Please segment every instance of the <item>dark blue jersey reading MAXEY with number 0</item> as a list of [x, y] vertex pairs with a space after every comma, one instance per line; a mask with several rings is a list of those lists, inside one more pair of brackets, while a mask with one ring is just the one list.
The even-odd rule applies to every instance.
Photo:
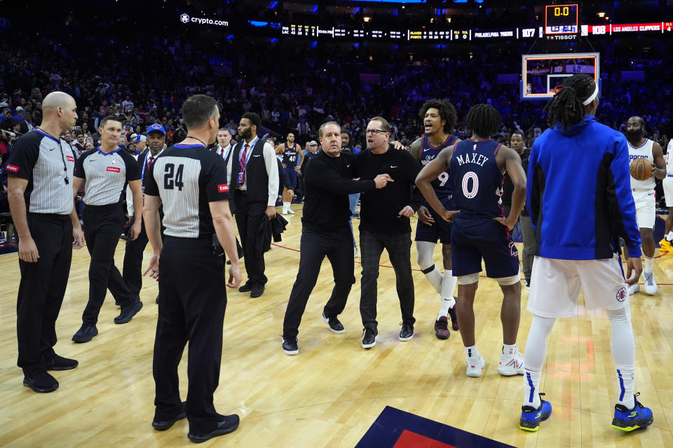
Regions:
[[462, 217], [503, 216], [503, 173], [496, 154], [502, 145], [492, 139], [463, 140], [451, 157], [454, 204]]

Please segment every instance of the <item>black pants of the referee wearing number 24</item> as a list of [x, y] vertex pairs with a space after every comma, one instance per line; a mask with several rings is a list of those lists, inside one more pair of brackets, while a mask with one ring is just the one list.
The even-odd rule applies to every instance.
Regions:
[[154, 341], [156, 420], [181, 411], [177, 366], [189, 342], [187, 405], [189, 432], [217, 428], [212, 394], [219, 382], [222, 321], [226, 309], [224, 257], [213, 253], [211, 236], [166, 236], [159, 258], [159, 295]]

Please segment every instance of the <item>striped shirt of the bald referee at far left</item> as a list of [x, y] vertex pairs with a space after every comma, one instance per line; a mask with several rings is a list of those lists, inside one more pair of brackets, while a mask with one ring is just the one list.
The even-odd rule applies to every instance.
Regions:
[[74, 204], [74, 167], [75, 155], [67, 141], [33, 130], [14, 144], [6, 171], [28, 181], [29, 213], [69, 215]]

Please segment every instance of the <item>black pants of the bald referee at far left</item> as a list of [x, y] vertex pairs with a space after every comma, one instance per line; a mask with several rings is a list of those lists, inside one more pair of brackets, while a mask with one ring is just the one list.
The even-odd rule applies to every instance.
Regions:
[[55, 323], [68, 284], [73, 238], [69, 215], [29, 213], [27, 221], [40, 258], [34, 263], [19, 260], [17, 365], [33, 377], [44, 372], [54, 356]]

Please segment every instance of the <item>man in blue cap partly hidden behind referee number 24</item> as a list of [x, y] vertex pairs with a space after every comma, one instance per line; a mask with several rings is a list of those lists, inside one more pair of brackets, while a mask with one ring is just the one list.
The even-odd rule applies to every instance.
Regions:
[[[158, 155], [163, 151], [163, 145], [165, 143], [166, 131], [163, 129], [162, 125], [157, 123], [147, 128], [148, 149], [140, 153], [140, 156], [138, 157], [140, 181], [143, 189], [145, 178], [146, 176], [149, 176], [149, 168], [154, 164], [154, 160], [156, 160]], [[132, 195], [129, 193], [128, 189], [126, 191], [126, 205], [128, 207], [128, 216], [130, 216], [128, 225], [132, 227], [135, 224], [136, 216], [142, 218], [142, 209], [137, 212], [135, 211], [135, 207], [133, 207], [132, 203]], [[138, 237], [136, 239], [126, 240], [122, 276], [126, 286], [128, 286], [128, 292], [134, 297], [140, 294], [140, 288], [142, 288], [142, 253], [144, 252], [148, 241], [144, 222], [141, 222], [140, 224], [140, 233], [138, 234]], [[158, 295], [156, 300], [158, 300]]]

